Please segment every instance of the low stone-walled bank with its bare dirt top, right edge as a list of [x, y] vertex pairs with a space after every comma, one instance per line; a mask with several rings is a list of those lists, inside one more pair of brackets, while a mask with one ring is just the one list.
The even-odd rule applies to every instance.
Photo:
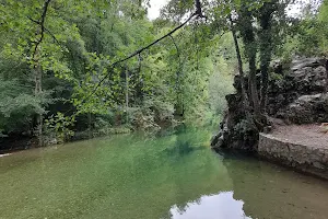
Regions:
[[278, 126], [260, 134], [258, 154], [304, 173], [328, 180], [328, 135], [319, 125]]

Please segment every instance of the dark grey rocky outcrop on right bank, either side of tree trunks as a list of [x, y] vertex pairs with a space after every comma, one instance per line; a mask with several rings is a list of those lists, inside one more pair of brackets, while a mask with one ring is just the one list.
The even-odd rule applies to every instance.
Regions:
[[[325, 59], [303, 58], [290, 65], [276, 61], [268, 89], [268, 116], [294, 124], [328, 122], [328, 95], [323, 94], [327, 73]], [[256, 151], [259, 132], [245, 119], [239, 76], [235, 77], [234, 88], [236, 93], [226, 96], [227, 112], [211, 145], [213, 148]], [[248, 88], [247, 78], [245, 88]]]

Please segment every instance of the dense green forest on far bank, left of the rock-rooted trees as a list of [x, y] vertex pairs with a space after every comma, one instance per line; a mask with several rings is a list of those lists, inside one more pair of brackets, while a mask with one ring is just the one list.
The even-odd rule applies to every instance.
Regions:
[[220, 113], [223, 103], [210, 105], [209, 97], [225, 93], [209, 80], [222, 73], [215, 83], [229, 84], [231, 78], [213, 64], [222, 62], [211, 49], [218, 39], [200, 23], [113, 66], [176, 26], [149, 21], [147, 3], [0, 1], [1, 135], [48, 136], [39, 142], [46, 143], [67, 140], [72, 130], [152, 130]]

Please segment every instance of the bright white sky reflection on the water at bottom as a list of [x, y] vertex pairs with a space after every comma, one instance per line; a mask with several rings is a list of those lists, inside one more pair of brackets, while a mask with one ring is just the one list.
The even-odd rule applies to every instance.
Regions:
[[172, 219], [251, 219], [243, 210], [244, 201], [233, 198], [233, 192], [203, 196], [187, 204], [184, 208], [176, 205], [169, 210]]

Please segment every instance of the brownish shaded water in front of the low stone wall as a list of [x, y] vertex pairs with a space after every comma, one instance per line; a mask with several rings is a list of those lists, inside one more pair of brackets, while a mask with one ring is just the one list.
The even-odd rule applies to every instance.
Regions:
[[304, 184], [306, 176], [245, 157], [236, 159], [225, 155], [223, 164], [233, 181], [234, 198], [245, 201], [244, 210], [247, 216], [286, 219], [325, 218], [323, 212], [315, 209], [325, 209], [327, 214], [324, 205], [327, 205], [328, 200], [325, 195], [321, 199], [314, 200], [319, 198], [318, 195], [314, 195], [314, 191], [320, 188], [313, 184]]

